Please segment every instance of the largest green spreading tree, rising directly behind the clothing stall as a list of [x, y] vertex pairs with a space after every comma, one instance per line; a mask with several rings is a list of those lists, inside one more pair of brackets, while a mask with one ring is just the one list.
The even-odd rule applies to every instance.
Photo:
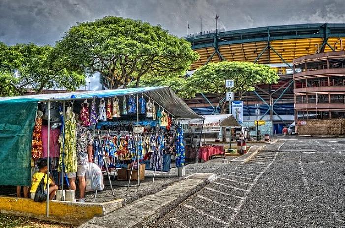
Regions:
[[184, 39], [172, 36], [160, 25], [104, 17], [73, 26], [57, 45], [66, 66], [109, 79], [110, 89], [124, 88], [142, 76], [183, 74], [198, 54]]

